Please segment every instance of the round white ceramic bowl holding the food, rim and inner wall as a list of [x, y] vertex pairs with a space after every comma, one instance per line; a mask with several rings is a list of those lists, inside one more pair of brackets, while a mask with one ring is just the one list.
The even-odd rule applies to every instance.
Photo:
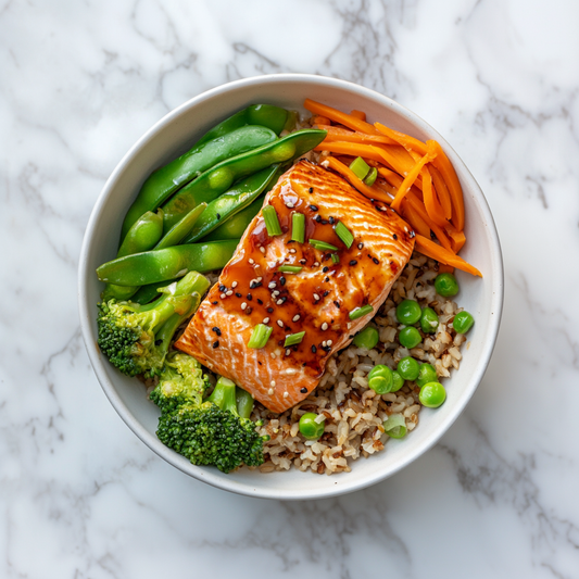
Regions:
[[[446, 402], [437, 410], [424, 408], [420, 424], [402, 440], [390, 440], [385, 451], [353, 463], [352, 471], [336, 476], [290, 470], [261, 474], [247, 468], [225, 475], [213, 467], [198, 467], [163, 445], [155, 436], [159, 411], [136, 378], [113, 368], [97, 348], [97, 307], [102, 291], [95, 269], [115, 255], [123, 217], [141, 184], [155, 167], [185, 152], [209, 128], [252, 103], [272, 103], [301, 110], [305, 98], [342, 111], [365, 111], [368, 121], [381, 123], [421, 140], [438, 140], [454, 164], [465, 197], [468, 241], [461, 255], [476, 265], [483, 278], [457, 273], [460, 305], [476, 319], [468, 335], [460, 370], [445, 380]], [[156, 454], [184, 473], [219, 489], [281, 500], [331, 496], [363, 489], [404, 468], [454, 423], [479, 385], [496, 340], [503, 302], [501, 248], [489, 206], [458, 155], [427, 123], [399, 103], [367, 88], [313, 75], [280, 74], [246, 78], [223, 85], [186, 102], [167, 114], [122, 159], [106, 181], [90, 216], [79, 264], [80, 326], [95, 373], [129, 428]]]

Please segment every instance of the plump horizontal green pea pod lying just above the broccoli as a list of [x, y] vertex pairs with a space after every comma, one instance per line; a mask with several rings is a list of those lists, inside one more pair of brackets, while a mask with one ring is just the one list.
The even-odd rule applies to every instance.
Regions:
[[97, 275], [101, 281], [118, 286], [156, 284], [187, 272], [219, 269], [231, 259], [236, 247], [236, 240], [226, 240], [144, 251], [105, 263], [97, 268]]

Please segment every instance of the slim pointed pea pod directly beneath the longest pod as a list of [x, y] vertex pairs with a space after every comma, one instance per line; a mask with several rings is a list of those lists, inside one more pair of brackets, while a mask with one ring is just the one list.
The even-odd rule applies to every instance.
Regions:
[[194, 224], [185, 243], [203, 239], [207, 234], [219, 227], [227, 219], [249, 206], [264, 191], [269, 190], [282, 173], [280, 165], [273, 165], [237, 182], [217, 199], [212, 201]]

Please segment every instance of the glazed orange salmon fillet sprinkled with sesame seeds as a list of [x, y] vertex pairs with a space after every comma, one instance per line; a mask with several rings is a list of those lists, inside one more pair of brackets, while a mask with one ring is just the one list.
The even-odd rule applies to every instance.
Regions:
[[[329, 356], [383, 303], [412, 255], [414, 231], [392, 210], [309, 161], [284, 174], [265, 204], [276, 210], [282, 235], [267, 234], [262, 212], [253, 218], [175, 347], [281, 413], [316, 388]], [[295, 212], [305, 215], [304, 243], [291, 240]], [[338, 222], [354, 236], [350, 248], [335, 231]], [[315, 249], [310, 239], [338, 250]], [[280, 273], [281, 265], [302, 269]], [[350, 319], [368, 304], [372, 313]], [[273, 328], [259, 350], [247, 345], [257, 324]], [[287, 336], [301, 331], [299, 344], [284, 347]]]

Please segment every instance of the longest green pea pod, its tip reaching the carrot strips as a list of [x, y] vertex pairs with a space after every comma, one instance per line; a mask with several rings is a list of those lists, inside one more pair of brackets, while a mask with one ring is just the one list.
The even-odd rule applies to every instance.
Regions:
[[325, 137], [325, 130], [298, 130], [253, 151], [222, 161], [186, 185], [163, 205], [164, 229], [168, 230], [181, 215], [199, 203], [209, 203], [219, 197], [237, 179], [257, 173], [274, 163], [297, 159], [319, 144]]

